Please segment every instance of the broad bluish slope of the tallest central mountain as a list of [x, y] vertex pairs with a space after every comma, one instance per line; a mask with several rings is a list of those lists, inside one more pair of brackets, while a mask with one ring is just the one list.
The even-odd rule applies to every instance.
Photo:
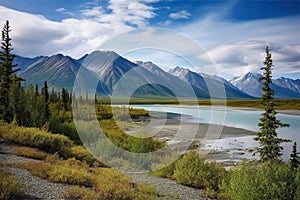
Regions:
[[[111, 51], [95, 51], [79, 59], [106, 84], [110, 94], [134, 97], [190, 97], [187, 85], [179, 85]], [[157, 66], [156, 66], [157, 67]], [[157, 67], [158, 70], [158, 67]], [[166, 74], [164, 74], [166, 76]], [[178, 79], [176, 79], [178, 80]], [[113, 93], [114, 92], [114, 93]], [[176, 93], [176, 94], [175, 94]]]

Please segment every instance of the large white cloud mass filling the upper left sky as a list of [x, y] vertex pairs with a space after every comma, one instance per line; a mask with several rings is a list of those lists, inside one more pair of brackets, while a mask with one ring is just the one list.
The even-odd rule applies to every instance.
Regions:
[[[104, 13], [100, 6], [94, 5], [85, 7], [81, 18], [71, 17], [60, 22], [0, 6], [0, 23], [10, 21], [16, 54], [32, 57], [60, 52], [80, 57], [97, 49], [108, 38], [146, 26], [155, 13], [154, 8], [143, 2], [111, 0], [108, 7], [111, 13]], [[68, 13], [65, 8], [56, 11]]]

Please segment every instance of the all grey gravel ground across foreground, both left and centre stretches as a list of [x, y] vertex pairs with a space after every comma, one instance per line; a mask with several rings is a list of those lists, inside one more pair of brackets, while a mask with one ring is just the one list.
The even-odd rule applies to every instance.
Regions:
[[[4, 142], [0, 139], [0, 163], [15, 163], [15, 162], [42, 162], [34, 159], [24, 158], [14, 155], [16, 145]], [[63, 199], [63, 192], [68, 188], [68, 185], [60, 183], [52, 183], [46, 179], [32, 175], [26, 169], [15, 167], [4, 167], [11, 175], [15, 176], [20, 183], [27, 185], [26, 197], [23, 199], [45, 199], [59, 200]], [[180, 185], [173, 180], [151, 176], [143, 173], [128, 173], [134, 182], [142, 182], [153, 185], [157, 188], [163, 197], [158, 197], [159, 200], [178, 199], [178, 200], [210, 200], [203, 190]]]

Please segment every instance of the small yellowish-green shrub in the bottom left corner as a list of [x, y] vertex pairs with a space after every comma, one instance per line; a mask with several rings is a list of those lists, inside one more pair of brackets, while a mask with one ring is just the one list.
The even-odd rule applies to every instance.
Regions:
[[0, 169], [0, 199], [18, 199], [25, 192], [25, 186], [17, 179], [10, 176], [6, 171]]

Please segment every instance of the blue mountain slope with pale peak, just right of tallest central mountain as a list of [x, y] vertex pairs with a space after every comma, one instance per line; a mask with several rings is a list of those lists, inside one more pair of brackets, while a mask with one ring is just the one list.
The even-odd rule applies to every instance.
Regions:
[[176, 67], [169, 71], [171, 74], [190, 83], [194, 87], [209, 91], [210, 98], [228, 98], [228, 99], [250, 99], [253, 98], [238, 88], [234, 87], [228, 81], [218, 76], [210, 76], [207, 74], [198, 74], [189, 69]]

